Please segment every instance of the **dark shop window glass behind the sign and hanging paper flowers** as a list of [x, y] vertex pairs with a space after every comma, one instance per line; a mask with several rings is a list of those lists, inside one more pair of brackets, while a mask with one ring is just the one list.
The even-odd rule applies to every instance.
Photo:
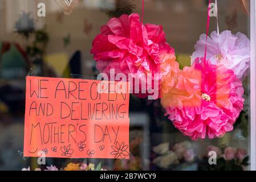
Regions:
[[[148, 100], [130, 94], [129, 160], [47, 158], [46, 164], [40, 166], [37, 158], [23, 158], [25, 77], [94, 79], [100, 69], [96, 68], [91, 53], [92, 42], [110, 16], [133, 12], [143, 15], [143, 24], [161, 25], [166, 43], [174, 48], [180, 69], [191, 66], [191, 56], [196, 51], [194, 46], [200, 35], [206, 33], [208, 1], [204, 0], [147, 0], [144, 9], [140, 0], [73, 0], [72, 6], [63, 1], [0, 0], [1, 170], [46, 169], [51, 165], [58, 169], [76, 169], [67, 166], [70, 163], [93, 163], [96, 167], [100, 162], [102, 168], [108, 170], [250, 170], [250, 72], [243, 75], [243, 69], [247, 69], [244, 64], [249, 65], [250, 58], [235, 67], [223, 57], [234, 56], [231, 59], [240, 61], [248, 59], [248, 53], [250, 56], [246, 46], [250, 45], [247, 40], [250, 39], [249, 1], [239, 0], [218, 1], [220, 34], [223, 39], [226, 36], [233, 39], [221, 47], [214, 47], [217, 33], [212, 34], [207, 52], [211, 56], [220, 52], [217, 55], [220, 60], [234, 68], [232, 74], [242, 80], [245, 101], [241, 113], [237, 111], [240, 114], [234, 119], [233, 130], [227, 129], [231, 131], [219, 138], [192, 140], [168, 119], [160, 99]], [[209, 35], [213, 31], [217, 31], [216, 16], [210, 18]], [[238, 37], [240, 40], [237, 41]], [[204, 52], [204, 46], [203, 42], [196, 47], [198, 54]], [[231, 46], [237, 46], [239, 51], [235, 52], [237, 50]], [[204, 100], [207, 99], [206, 94]], [[184, 117], [188, 116], [184, 113]], [[215, 132], [221, 133], [218, 129]], [[211, 165], [215, 161], [214, 154], [217, 154], [217, 164]]]

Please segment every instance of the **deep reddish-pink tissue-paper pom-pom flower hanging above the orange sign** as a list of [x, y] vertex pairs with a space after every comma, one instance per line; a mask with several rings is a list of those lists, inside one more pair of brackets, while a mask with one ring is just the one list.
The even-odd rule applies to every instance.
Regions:
[[[137, 78], [140, 81], [137, 85], [133, 81], [133, 93], [137, 86], [139, 93], [135, 93], [136, 96], [145, 98], [152, 95], [149, 89], [160, 90], [160, 65], [164, 61], [160, 55], [167, 53], [174, 56], [174, 49], [166, 43], [162, 26], [144, 25], [138, 14], [124, 14], [120, 18], [111, 18], [101, 27], [100, 34], [92, 42], [91, 53], [97, 61], [97, 69], [108, 77], [111, 69], [115, 69], [115, 75], [124, 73], [127, 78], [131, 73], [134, 80]], [[143, 77], [148, 73], [152, 74], [151, 79]], [[141, 84], [141, 81], [147, 84]], [[154, 81], [158, 88], [151, 86]]]

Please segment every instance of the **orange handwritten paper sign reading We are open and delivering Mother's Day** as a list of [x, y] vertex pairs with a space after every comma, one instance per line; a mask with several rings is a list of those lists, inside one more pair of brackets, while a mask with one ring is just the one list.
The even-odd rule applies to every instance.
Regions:
[[127, 82], [27, 77], [24, 156], [129, 158]]

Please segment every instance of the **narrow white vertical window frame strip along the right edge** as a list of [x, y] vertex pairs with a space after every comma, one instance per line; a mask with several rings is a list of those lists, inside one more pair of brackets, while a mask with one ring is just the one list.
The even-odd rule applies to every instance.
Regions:
[[251, 71], [250, 71], [250, 164], [251, 171], [256, 171], [256, 3], [250, 1], [250, 40], [251, 40]]

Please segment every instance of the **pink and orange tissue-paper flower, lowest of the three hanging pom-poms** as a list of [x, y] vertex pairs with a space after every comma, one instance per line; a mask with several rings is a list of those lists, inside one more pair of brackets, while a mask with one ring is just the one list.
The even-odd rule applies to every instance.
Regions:
[[180, 71], [161, 99], [173, 125], [193, 140], [223, 137], [243, 109], [242, 82], [234, 72], [203, 60]]

